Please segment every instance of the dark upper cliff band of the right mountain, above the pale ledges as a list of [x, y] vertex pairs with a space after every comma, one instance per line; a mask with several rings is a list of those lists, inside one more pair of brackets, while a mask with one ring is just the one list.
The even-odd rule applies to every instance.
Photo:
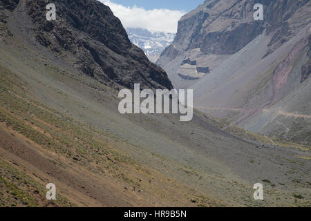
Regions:
[[[263, 30], [266, 35], [274, 32], [269, 46], [275, 49], [288, 40], [295, 28], [292, 25], [308, 24], [308, 19], [299, 23], [290, 20], [308, 2], [207, 0], [180, 19], [176, 39], [162, 57], [172, 60], [180, 52], [194, 48], [200, 48], [205, 55], [232, 55], [261, 35]], [[264, 6], [264, 21], [253, 19], [256, 3]]]

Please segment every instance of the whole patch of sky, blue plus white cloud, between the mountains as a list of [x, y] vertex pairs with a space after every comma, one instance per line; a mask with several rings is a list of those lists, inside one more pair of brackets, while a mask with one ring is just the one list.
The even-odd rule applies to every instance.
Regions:
[[111, 8], [125, 28], [176, 33], [178, 20], [204, 0], [99, 0]]

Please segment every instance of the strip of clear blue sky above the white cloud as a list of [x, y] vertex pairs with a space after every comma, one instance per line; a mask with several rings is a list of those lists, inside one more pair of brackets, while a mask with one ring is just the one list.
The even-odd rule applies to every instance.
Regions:
[[122, 6], [140, 6], [147, 10], [155, 8], [167, 8], [170, 10], [184, 10], [189, 12], [194, 10], [204, 0], [113, 0]]

